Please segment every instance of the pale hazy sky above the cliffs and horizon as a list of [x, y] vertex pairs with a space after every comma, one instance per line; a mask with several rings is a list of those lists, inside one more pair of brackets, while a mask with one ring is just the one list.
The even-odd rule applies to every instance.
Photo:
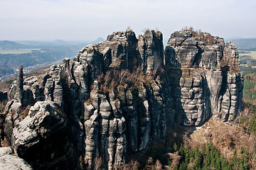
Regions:
[[0, 40], [95, 40], [128, 26], [256, 38], [255, 0], [0, 0]]

